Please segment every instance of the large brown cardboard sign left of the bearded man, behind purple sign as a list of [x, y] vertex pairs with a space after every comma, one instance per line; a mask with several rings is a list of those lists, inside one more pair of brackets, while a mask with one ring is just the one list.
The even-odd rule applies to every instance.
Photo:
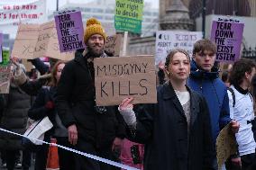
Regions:
[[60, 53], [55, 23], [46, 22], [41, 25], [21, 24], [14, 41], [12, 56], [26, 59], [48, 57], [70, 60], [74, 58], [74, 53]]

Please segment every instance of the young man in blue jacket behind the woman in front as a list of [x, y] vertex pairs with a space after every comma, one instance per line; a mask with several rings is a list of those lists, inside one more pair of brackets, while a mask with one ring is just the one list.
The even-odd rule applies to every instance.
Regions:
[[[216, 46], [210, 40], [198, 40], [193, 49], [191, 73], [187, 85], [206, 98], [210, 111], [214, 144], [222, 128], [230, 121], [233, 132], [237, 132], [239, 124], [232, 121], [229, 115], [227, 88], [218, 77], [215, 67]], [[215, 164], [216, 166], [216, 164]], [[217, 166], [215, 167], [217, 169]]]

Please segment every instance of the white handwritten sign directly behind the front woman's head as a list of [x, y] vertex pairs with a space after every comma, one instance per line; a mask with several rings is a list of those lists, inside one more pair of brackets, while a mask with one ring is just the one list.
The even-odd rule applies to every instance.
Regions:
[[201, 31], [157, 31], [155, 64], [165, 62], [165, 58], [172, 49], [186, 49], [190, 57], [195, 42], [201, 40]]

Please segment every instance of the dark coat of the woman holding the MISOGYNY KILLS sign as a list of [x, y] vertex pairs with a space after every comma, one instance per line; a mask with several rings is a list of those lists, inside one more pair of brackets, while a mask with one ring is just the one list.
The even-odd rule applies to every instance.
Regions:
[[144, 104], [137, 112], [135, 132], [129, 136], [145, 144], [144, 169], [211, 170], [213, 142], [205, 99], [191, 91], [190, 127], [169, 82], [158, 88], [158, 103]]

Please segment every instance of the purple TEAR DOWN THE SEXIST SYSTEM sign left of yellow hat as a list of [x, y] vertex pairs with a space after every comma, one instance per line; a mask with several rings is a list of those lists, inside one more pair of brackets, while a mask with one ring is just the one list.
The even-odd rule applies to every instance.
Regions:
[[54, 16], [60, 52], [84, 49], [84, 27], [81, 12], [62, 12]]

